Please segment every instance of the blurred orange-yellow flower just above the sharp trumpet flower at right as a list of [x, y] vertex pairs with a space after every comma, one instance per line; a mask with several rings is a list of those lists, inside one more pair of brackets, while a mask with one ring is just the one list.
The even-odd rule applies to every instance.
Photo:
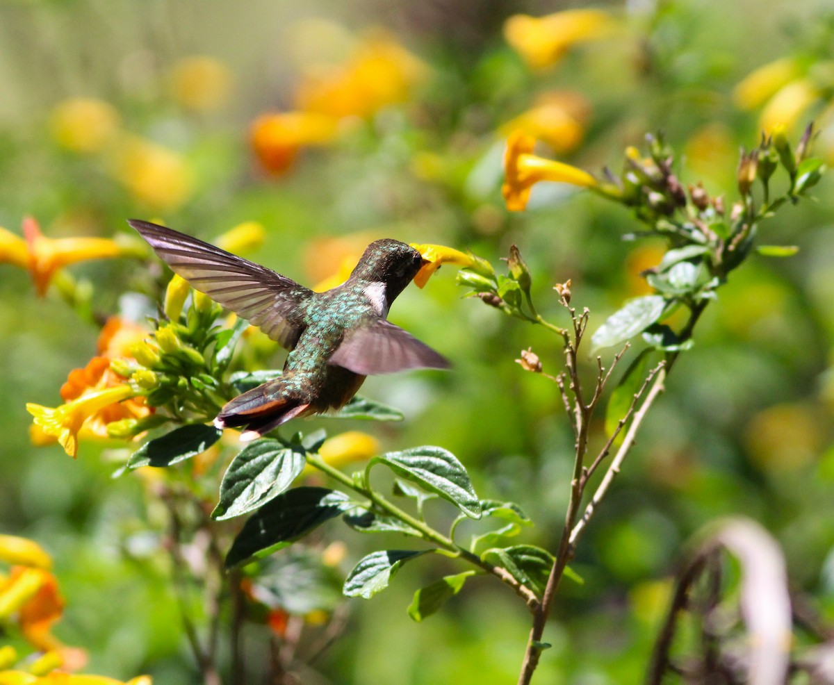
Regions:
[[557, 154], [570, 153], [585, 136], [590, 102], [578, 92], [549, 92], [526, 112], [500, 128], [503, 136], [524, 131], [543, 141]]

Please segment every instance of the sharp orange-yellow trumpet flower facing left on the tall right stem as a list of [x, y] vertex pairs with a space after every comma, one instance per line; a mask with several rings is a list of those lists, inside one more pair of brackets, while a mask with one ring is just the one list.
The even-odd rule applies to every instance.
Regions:
[[507, 209], [520, 212], [527, 207], [530, 188], [540, 181], [570, 183], [581, 188], [593, 188], [596, 179], [580, 168], [533, 154], [535, 138], [523, 131], [515, 131], [507, 138], [504, 156], [505, 180], [501, 186]]

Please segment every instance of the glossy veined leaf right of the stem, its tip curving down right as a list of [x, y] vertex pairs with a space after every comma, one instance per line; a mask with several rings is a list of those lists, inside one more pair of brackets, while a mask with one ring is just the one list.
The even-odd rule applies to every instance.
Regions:
[[384, 463], [394, 473], [447, 499], [470, 518], [480, 518], [480, 500], [472, 489], [469, 474], [455, 455], [443, 448], [425, 446], [374, 457], [370, 463]]

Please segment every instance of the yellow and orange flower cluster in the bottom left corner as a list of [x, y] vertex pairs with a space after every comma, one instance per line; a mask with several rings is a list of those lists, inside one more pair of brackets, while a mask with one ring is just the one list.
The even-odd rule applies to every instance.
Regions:
[[151, 685], [148, 676], [123, 682], [73, 673], [87, 662], [87, 653], [52, 634], [64, 607], [58, 578], [49, 572], [52, 557], [37, 542], [0, 535], [0, 562], [10, 566], [8, 572], [0, 570], [0, 632], [6, 635], [17, 627], [29, 645], [43, 652], [22, 659], [15, 647], [0, 647], [0, 685]]

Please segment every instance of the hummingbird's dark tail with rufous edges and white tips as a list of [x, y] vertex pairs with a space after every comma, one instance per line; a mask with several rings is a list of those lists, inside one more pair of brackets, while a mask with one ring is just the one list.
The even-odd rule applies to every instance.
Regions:
[[229, 400], [214, 419], [214, 425], [217, 428], [246, 428], [240, 439], [249, 441], [309, 411], [309, 402], [276, 393], [274, 383], [264, 383]]

